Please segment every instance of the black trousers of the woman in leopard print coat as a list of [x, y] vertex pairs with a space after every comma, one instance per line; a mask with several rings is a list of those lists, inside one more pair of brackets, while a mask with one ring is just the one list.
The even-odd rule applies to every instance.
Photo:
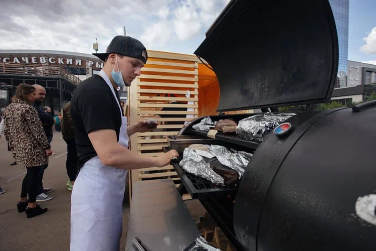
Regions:
[[29, 203], [37, 200], [37, 189], [39, 182], [39, 172], [41, 167], [27, 167], [28, 172], [22, 182], [21, 198], [25, 198], [29, 195]]

